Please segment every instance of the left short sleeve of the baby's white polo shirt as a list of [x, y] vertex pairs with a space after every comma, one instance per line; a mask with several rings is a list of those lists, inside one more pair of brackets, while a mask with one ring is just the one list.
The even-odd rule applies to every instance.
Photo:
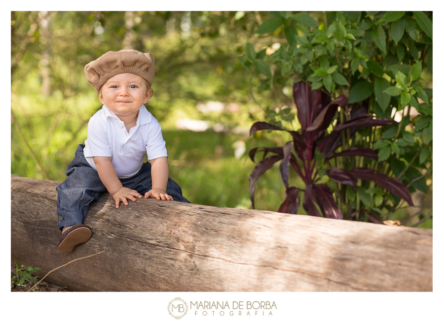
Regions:
[[108, 141], [106, 123], [94, 116], [91, 117], [88, 122], [84, 155], [85, 158], [111, 157], [111, 147]]

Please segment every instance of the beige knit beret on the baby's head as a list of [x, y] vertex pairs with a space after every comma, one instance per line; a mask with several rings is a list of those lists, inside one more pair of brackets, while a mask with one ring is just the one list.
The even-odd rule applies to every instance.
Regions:
[[154, 80], [154, 58], [151, 53], [136, 50], [109, 51], [95, 61], [85, 65], [88, 83], [97, 93], [108, 79], [120, 73], [133, 73], [148, 81]]

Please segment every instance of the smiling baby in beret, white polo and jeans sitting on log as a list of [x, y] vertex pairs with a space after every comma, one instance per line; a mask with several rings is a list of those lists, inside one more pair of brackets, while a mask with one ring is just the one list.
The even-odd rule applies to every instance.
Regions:
[[103, 107], [89, 120], [85, 145], [78, 146], [68, 178], [57, 186], [58, 249], [65, 253], [91, 237], [83, 220], [102, 193], [112, 195], [115, 208], [142, 197], [189, 202], [168, 176], [160, 124], [144, 106], [153, 93], [151, 53], [110, 51], [87, 64], [85, 74]]

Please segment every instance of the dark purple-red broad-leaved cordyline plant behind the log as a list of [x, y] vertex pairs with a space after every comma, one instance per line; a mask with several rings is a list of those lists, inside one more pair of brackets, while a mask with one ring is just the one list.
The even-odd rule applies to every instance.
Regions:
[[[301, 125], [300, 132], [286, 130], [265, 122], [253, 124], [250, 130], [250, 136], [259, 130], [285, 130], [293, 137], [293, 140], [287, 142], [284, 147], [256, 147], [250, 151], [250, 158], [253, 162], [256, 153], [264, 153], [262, 161], [258, 162], [250, 175], [250, 198], [253, 208], [255, 207], [254, 194], [259, 177], [276, 162], [282, 160], [279, 169], [286, 189], [286, 197], [278, 212], [296, 214], [299, 208], [301, 189], [289, 186], [288, 174], [291, 165], [305, 184], [305, 189], [302, 190], [305, 193], [302, 205], [307, 214], [342, 219], [342, 213], [334, 201], [329, 186], [317, 183], [320, 180], [319, 172], [324, 166], [320, 165], [319, 161], [325, 163], [338, 156], [362, 156], [377, 161], [378, 152], [364, 147], [352, 147], [333, 154], [341, 147], [341, 132], [347, 130], [350, 136], [353, 136], [361, 127], [386, 126], [396, 122], [390, 118], [375, 119], [368, 115], [367, 107], [357, 105], [351, 109], [348, 121], [340, 123], [338, 118], [332, 132], [326, 134], [327, 128], [338, 112], [338, 106], [345, 108], [348, 97], [340, 95], [331, 101], [328, 94], [320, 90], [311, 90], [311, 86], [302, 81], [293, 85], [293, 98], [297, 108], [297, 119]], [[293, 149], [296, 155], [293, 154]], [[268, 154], [272, 155], [267, 157]], [[378, 186], [406, 200], [410, 206], [413, 205], [410, 193], [401, 181], [373, 169], [355, 167], [345, 171], [338, 167], [332, 167], [325, 174], [332, 180], [349, 186], [356, 186], [356, 179], [373, 181]]]

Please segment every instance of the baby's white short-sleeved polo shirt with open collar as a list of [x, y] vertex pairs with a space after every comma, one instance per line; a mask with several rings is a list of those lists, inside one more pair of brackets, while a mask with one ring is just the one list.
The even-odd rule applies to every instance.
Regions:
[[83, 154], [96, 171], [93, 157], [111, 157], [119, 178], [135, 175], [145, 160], [145, 154], [148, 160], [168, 156], [160, 124], [144, 105], [139, 110], [136, 126], [129, 132], [120, 118], [103, 105], [89, 119]]

